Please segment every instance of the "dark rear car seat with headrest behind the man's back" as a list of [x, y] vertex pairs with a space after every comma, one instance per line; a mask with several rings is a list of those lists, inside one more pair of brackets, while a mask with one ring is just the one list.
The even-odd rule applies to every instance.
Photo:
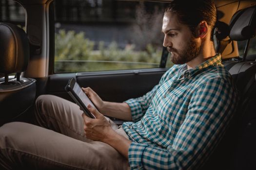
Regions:
[[241, 59], [223, 62], [236, 84], [240, 100], [229, 129], [202, 170], [256, 170], [256, 54], [247, 56], [256, 35], [256, 7], [236, 12], [230, 23], [230, 38], [247, 40]]

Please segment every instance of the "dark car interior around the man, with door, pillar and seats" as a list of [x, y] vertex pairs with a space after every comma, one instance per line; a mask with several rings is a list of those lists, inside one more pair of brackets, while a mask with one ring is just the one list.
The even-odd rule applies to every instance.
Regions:
[[[71, 78], [80, 86], [94, 89], [105, 101], [123, 102], [150, 91], [169, 69], [168, 51], [163, 47], [156, 68], [56, 72], [54, 0], [14, 1], [25, 10], [25, 31], [15, 23], [0, 20], [0, 126], [11, 121], [33, 123], [35, 100], [41, 94], [74, 102], [64, 89]], [[171, 0], [151, 1], [165, 4]], [[249, 51], [256, 47], [252, 43], [256, 35], [256, 1], [214, 1], [218, 11], [216, 52], [221, 53], [240, 98], [229, 129], [201, 169], [255, 170], [256, 51]], [[118, 124], [123, 122], [112, 119]]]

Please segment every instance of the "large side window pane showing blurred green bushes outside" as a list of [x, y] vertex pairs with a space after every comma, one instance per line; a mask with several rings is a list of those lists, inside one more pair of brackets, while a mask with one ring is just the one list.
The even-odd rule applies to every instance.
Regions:
[[55, 0], [55, 72], [158, 68], [165, 4]]

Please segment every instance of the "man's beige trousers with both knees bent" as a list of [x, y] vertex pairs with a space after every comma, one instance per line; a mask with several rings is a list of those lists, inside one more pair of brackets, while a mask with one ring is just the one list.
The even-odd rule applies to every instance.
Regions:
[[[75, 103], [42, 95], [35, 114], [39, 126], [11, 122], [0, 127], [0, 170], [129, 169], [128, 160], [110, 145], [84, 136], [82, 111]], [[108, 120], [117, 133], [128, 138]]]

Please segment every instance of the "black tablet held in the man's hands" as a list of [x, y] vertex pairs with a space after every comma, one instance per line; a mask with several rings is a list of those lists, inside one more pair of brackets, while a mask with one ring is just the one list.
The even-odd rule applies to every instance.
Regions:
[[92, 107], [97, 107], [91, 102], [91, 100], [86, 96], [84, 91], [81, 89], [80, 85], [76, 82], [74, 78], [68, 81], [68, 84], [65, 86], [65, 90], [68, 92], [70, 97], [79, 105], [82, 111], [89, 118], [96, 118], [88, 109], [88, 105], [91, 104]]

